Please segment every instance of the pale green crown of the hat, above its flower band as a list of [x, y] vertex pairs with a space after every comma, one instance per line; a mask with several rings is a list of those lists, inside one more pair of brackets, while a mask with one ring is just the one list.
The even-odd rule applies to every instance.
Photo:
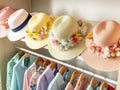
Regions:
[[53, 26], [52, 30], [57, 40], [68, 39], [70, 36], [78, 31], [78, 23], [73, 17], [63, 15], [58, 17]]

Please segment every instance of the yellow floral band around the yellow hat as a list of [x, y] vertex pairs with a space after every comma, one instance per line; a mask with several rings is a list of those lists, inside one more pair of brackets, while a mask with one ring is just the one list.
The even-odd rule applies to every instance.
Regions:
[[45, 26], [41, 27], [39, 32], [30, 32], [29, 29], [26, 30], [26, 33], [28, 37], [34, 39], [34, 40], [42, 40], [48, 37], [49, 31], [53, 25], [53, 22], [55, 21], [55, 16], [50, 16], [50, 21], [46, 23]]

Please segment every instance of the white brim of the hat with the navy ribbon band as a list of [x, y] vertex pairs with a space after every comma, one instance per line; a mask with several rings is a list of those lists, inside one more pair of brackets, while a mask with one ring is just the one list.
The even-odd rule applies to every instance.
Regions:
[[18, 32], [13, 32], [12, 30], [9, 31], [9, 34], [8, 34], [8, 39], [10, 41], [17, 41], [17, 40], [20, 40], [22, 39], [24, 36], [25, 36], [25, 33], [26, 33], [26, 28], [27, 28], [27, 25], [24, 26], [20, 31]]

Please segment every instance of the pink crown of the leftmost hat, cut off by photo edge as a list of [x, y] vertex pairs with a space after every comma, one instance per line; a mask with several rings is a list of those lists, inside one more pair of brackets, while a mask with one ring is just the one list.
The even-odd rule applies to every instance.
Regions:
[[0, 10], [0, 21], [7, 21], [9, 16], [14, 12], [10, 7], [5, 7]]

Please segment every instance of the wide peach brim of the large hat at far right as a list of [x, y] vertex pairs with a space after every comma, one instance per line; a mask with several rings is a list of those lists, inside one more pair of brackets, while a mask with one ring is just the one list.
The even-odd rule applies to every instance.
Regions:
[[99, 71], [117, 71], [120, 66], [120, 58], [104, 59], [103, 57], [92, 54], [88, 48], [83, 52], [81, 57], [89, 66]]

